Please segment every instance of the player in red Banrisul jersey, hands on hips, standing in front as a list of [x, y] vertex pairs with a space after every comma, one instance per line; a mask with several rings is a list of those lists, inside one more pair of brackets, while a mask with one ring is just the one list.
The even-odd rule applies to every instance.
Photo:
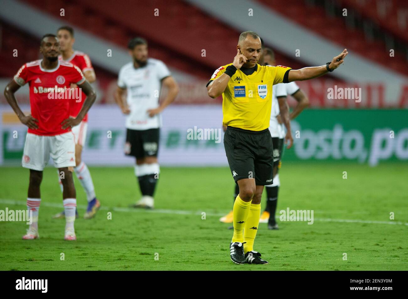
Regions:
[[[23, 236], [24, 240], [38, 238], [38, 210], [41, 196], [42, 171], [49, 158], [58, 168], [64, 192], [62, 193], [66, 215], [65, 240], [76, 240], [74, 221], [76, 192], [72, 171], [75, 166], [75, 141], [71, 128], [78, 125], [95, 102], [96, 94], [81, 70], [68, 62], [59, 61], [60, 43], [53, 34], [41, 39], [42, 60], [24, 64], [13, 80], [7, 84], [4, 96], [20, 121], [29, 127], [22, 158], [22, 166], [30, 169], [27, 209], [32, 211], [32, 223]], [[24, 115], [17, 104], [15, 92], [26, 83], [30, 87], [31, 114]], [[78, 116], [70, 118], [69, 100], [71, 84], [77, 84], [86, 100]], [[76, 100], [82, 94], [74, 93]]]

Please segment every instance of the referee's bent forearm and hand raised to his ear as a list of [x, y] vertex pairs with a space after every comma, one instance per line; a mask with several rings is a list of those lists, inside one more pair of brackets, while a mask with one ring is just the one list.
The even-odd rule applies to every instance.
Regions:
[[210, 96], [211, 98], [221, 96], [225, 91], [228, 85], [228, 81], [231, 79], [233, 74], [235, 74], [235, 72], [239, 70], [244, 63], [246, 63], [246, 57], [239, 52], [239, 49], [237, 49], [237, 55], [235, 55], [234, 57], [233, 64], [227, 66], [224, 74], [222, 74], [207, 86], [208, 96]]

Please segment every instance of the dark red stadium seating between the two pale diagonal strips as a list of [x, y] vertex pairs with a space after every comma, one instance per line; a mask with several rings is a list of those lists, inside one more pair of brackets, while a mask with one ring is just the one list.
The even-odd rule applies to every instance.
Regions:
[[[109, 0], [101, 0], [98, 5], [91, 0], [70, 4], [62, 0], [46, 0], [46, 4], [35, 0], [24, 2], [58, 18], [62, 18], [60, 9], [64, 8], [65, 20], [120, 46], [126, 47], [127, 41], [135, 35], [145, 37], [151, 57], [202, 79], [208, 79], [215, 68], [232, 61], [235, 55], [235, 51], [225, 49], [235, 48], [239, 32], [181, 0], [135, 0], [126, 2], [126, 6], [118, 4], [115, 10], [111, 9]], [[154, 15], [155, 8], [159, 9], [159, 16]], [[180, 44], [180, 40], [188, 40], [189, 46]], [[202, 57], [203, 49], [205, 57]], [[276, 59], [279, 64], [293, 68], [306, 66], [281, 53], [276, 53]]]

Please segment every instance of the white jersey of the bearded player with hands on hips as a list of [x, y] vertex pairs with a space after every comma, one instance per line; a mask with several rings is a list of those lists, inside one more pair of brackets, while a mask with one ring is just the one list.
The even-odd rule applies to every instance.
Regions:
[[118, 86], [127, 90], [130, 114], [126, 116], [126, 128], [133, 130], [156, 129], [162, 126], [162, 117], [149, 117], [147, 110], [159, 107], [162, 79], [170, 76], [166, 65], [157, 59], [147, 59], [146, 66], [134, 68], [133, 62], [119, 71]]

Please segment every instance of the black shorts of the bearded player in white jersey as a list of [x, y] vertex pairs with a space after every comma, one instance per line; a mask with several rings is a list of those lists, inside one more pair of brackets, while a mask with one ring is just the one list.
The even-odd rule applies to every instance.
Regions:
[[125, 154], [136, 158], [157, 157], [160, 129], [126, 129]]

